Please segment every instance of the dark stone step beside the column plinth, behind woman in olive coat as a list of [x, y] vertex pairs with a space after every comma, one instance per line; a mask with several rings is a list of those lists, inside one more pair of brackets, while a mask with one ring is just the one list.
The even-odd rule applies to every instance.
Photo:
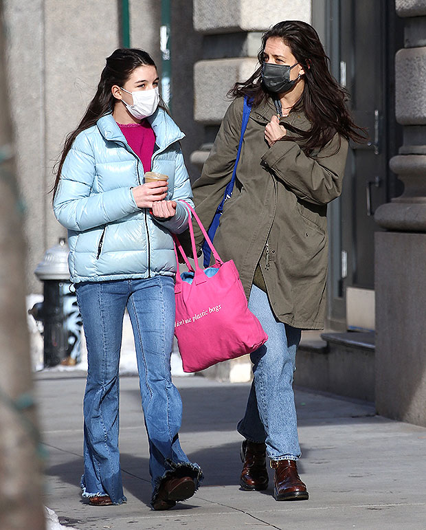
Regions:
[[302, 333], [296, 386], [374, 401], [374, 332]]

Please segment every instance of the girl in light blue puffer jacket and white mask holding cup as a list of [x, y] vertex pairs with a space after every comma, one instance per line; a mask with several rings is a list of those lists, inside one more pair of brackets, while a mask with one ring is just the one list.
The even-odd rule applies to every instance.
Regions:
[[[98, 90], [65, 141], [54, 212], [68, 229], [69, 270], [87, 341], [82, 496], [126, 501], [118, 450], [122, 322], [131, 318], [150, 448], [153, 509], [194, 494], [202, 473], [181, 449], [182, 404], [170, 376], [175, 323], [172, 233], [185, 230], [192, 191], [179, 140], [159, 104], [159, 78], [140, 49], [106, 58]], [[166, 175], [144, 183], [149, 170]], [[191, 202], [191, 201], [190, 201]]]

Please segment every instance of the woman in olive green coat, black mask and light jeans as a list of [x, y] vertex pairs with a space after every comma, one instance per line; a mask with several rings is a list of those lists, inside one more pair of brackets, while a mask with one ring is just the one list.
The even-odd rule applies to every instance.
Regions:
[[323, 326], [326, 204], [340, 195], [348, 140], [361, 135], [311, 25], [276, 24], [263, 36], [258, 59], [253, 76], [231, 91], [234, 101], [194, 184], [194, 202], [210, 225], [232, 176], [248, 98], [252, 108], [236, 185], [214, 239], [219, 254], [236, 263], [249, 309], [269, 336], [251, 354], [254, 381], [238, 423], [245, 438], [240, 485], [267, 488], [267, 455], [276, 500], [303, 500], [309, 494], [296, 464], [295, 353], [302, 329]]

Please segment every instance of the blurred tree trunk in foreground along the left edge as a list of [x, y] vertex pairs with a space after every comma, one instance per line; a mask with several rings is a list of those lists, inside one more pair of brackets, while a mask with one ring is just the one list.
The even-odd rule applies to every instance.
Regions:
[[0, 1], [0, 530], [42, 530], [41, 459], [25, 314], [23, 205], [14, 176], [5, 74]]

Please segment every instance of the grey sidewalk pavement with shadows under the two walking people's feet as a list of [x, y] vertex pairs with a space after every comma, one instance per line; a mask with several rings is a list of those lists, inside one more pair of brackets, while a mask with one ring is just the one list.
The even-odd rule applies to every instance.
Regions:
[[170, 511], [151, 511], [148, 443], [137, 377], [121, 378], [120, 506], [91, 507], [82, 472], [84, 373], [36, 373], [38, 414], [48, 451], [45, 505], [62, 525], [81, 530], [180, 529], [424, 530], [426, 428], [374, 415], [371, 404], [296, 390], [302, 480], [308, 501], [276, 502], [239, 489], [243, 414], [249, 384], [175, 377], [183, 399], [181, 444], [203, 467], [199, 491]]

